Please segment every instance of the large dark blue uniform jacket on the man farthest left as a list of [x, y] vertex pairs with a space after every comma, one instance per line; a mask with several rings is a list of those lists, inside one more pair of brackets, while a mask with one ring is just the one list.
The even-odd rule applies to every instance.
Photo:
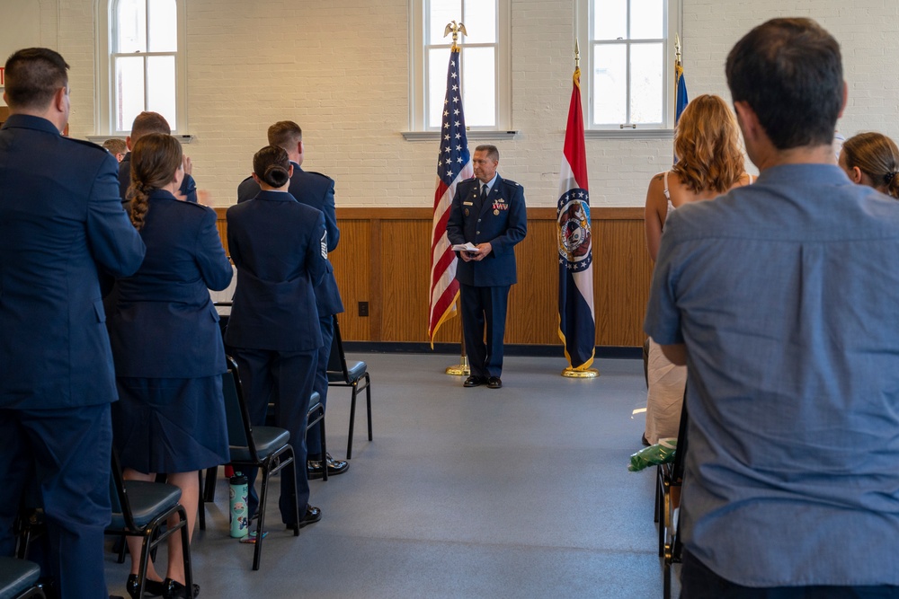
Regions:
[[0, 408], [117, 398], [98, 268], [130, 275], [144, 242], [99, 145], [12, 115], [0, 130]]

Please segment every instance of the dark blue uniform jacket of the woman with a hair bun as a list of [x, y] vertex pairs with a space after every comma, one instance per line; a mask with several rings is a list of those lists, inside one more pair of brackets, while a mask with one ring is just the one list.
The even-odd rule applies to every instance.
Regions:
[[327, 271], [325, 236], [325, 216], [284, 191], [260, 191], [227, 209], [228, 248], [237, 267], [229, 346], [321, 347], [314, 287]]

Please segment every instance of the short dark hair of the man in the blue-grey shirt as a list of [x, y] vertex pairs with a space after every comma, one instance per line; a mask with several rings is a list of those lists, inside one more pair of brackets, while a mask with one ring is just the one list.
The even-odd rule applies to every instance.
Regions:
[[727, 85], [779, 150], [829, 145], [840, 116], [840, 44], [811, 19], [772, 19], [727, 55]]

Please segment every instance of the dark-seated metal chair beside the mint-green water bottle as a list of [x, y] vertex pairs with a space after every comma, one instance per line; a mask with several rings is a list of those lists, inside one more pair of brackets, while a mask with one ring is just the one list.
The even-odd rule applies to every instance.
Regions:
[[[256, 521], [256, 542], [253, 553], [253, 569], [259, 569], [263, 554], [263, 527], [265, 524], [265, 503], [268, 495], [269, 477], [285, 467], [296, 471], [296, 458], [289, 444], [290, 433], [278, 427], [252, 427], [246, 409], [244, 395], [240, 387], [237, 363], [233, 357], [225, 357], [227, 373], [222, 374], [222, 391], [225, 394], [227, 414], [228, 445], [231, 449], [231, 463], [234, 466], [259, 468], [262, 472], [262, 488], [259, 493], [258, 519]], [[305, 468], [305, 464], [304, 468]], [[296, 479], [295, 479], [296, 480]], [[283, 479], [281, 484], [284, 484]], [[294, 496], [297, 491], [294, 489]], [[293, 535], [299, 535], [299, 508], [294, 515]]]

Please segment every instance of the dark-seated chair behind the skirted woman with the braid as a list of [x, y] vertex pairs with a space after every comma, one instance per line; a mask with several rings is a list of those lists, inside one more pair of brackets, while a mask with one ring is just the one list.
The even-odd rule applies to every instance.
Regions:
[[[121, 473], [119, 455], [112, 451], [112, 475], [110, 477], [110, 497], [112, 501], [112, 522], [106, 534], [123, 537], [141, 537], [140, 566], [138, 568], [138, 592], [144, 594], [147, 582], [147, 564], [150, 553], [171, 535], [181, 531], [184, 554], [185, 586], [193, 588], [191, 569], [191, 542], [187, 530], [187, 512], [179, 503], [181, 489], [165, 482], [146, 480], [125, 480]], [[167, 520], [178, 515], [174, 526]]]

